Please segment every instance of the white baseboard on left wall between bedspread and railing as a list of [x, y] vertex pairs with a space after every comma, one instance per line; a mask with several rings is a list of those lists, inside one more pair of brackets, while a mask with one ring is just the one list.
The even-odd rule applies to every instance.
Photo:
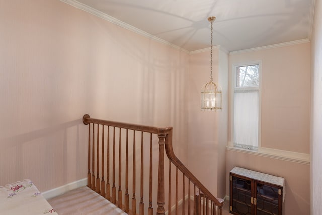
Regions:
[[87, 178], [83, 178], [78, 181], [71, 182], [69, 184], [63, 185], [61, 187], [54, 188], [52, 190], [47, 190], [42, 193], [42, 196], [48, 200], [50, 198], [62, 195], [70, 190], [77, 189], [87, 185]]

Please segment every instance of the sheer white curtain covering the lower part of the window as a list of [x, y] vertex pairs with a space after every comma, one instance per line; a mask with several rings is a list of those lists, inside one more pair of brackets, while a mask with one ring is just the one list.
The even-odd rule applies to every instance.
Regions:
[[258, 150], [259, 90], [234, 91], [234, 147]]

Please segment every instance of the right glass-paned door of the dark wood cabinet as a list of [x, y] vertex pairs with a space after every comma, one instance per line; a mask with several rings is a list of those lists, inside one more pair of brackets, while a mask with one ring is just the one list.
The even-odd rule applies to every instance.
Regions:
[[278, 214], [278, 188], [261, 184], [256, 184], [257, 215]]

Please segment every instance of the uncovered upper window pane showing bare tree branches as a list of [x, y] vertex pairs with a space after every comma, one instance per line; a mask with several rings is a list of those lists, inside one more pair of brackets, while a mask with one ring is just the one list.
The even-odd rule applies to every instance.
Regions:
[[248, 65], [237, 67], [237, 87], [258, 87], [259, 65]]

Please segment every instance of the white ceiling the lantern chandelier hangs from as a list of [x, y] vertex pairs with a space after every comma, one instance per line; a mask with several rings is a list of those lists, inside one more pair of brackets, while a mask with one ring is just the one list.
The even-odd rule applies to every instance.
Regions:
[[210, 47], [209, 16], [216, 16], [213, 45], [229, 52], [310, 39], [314, 9], [314, 0], [78, 2], [187, 51]]

